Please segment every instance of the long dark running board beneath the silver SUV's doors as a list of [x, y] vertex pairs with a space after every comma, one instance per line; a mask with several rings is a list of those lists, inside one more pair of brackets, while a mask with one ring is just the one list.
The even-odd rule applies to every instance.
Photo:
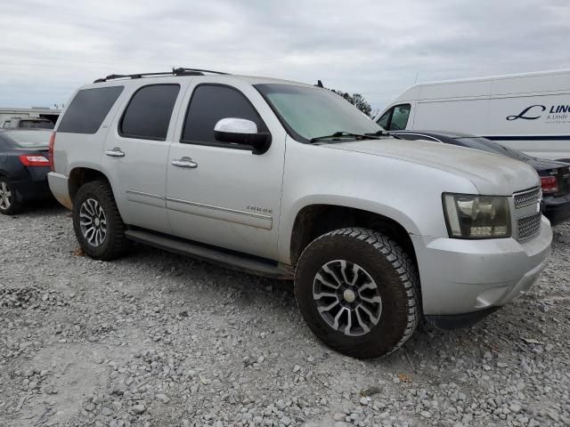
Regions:
[[221, 249], [201, 246], [190, 241], [181, 241], [175, 238], [168, 238], [144, 230], [126, 230], [126, 238], [140, 242], [149, 246], [158, 247], [175, 254], [183, 254], [204, 260], [215, 262], [232, 270], [240, 270], [253, 273], [265, 278], [292, 279], [293, 270], [289, 266], [280, 263], [264, 262], [253, 259], [247, 255], [227, 253]]

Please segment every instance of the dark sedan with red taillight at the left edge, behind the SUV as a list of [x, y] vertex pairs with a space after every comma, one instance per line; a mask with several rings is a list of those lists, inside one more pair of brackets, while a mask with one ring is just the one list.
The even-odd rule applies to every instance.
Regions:
[[50, 131], [0, 129], [0, 214], [20, 212], [27, 202], [50, 198]]

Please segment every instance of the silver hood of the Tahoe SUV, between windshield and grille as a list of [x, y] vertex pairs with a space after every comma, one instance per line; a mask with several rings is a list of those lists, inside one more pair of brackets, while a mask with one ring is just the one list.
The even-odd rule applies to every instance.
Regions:
[[506, 156], [448, 144], [386, 138], [330, 143], [322, 147], [396, 158], [441, 169], [467, 178], [480, 194], [489, 196], [510, 196], [540, 185], [538, 175], [530, 165]]

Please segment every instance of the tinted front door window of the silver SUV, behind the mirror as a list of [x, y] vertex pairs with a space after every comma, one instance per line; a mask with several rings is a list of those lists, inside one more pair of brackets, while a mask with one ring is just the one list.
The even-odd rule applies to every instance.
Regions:
[[216, 123], [229, 117], [246, 118], [257, 125], [257, 132], [268, 132], [251, 102], [237, 89], [223, 85], [197, 86], [186, 112], [181, 142], [232, 146], [214, 137]]

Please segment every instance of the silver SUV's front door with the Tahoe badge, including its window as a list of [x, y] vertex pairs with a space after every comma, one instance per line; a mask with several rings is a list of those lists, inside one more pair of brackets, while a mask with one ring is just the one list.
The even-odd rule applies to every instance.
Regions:
[[[208, 77], [208, 83], [195, 80], [168, 156], [172, 230], [179, 237], [276, 259], [285, 131], [251, 85], [238, 79], [222, 85], [216, 77]], [[216, 141], [214, 126], [228, 117], [251, 120], [258, 131], [271, 133], [271, 147], [255, 155], [250, 147]]]

